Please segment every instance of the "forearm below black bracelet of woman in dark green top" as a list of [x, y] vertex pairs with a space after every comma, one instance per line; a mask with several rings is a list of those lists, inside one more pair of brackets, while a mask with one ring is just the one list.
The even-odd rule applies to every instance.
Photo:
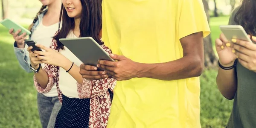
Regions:
[[237, 79], [235, 69], [223, 70], [219, 68], [216, 78], [218, 89], [227, 99], [233, 99], [237, 90]]

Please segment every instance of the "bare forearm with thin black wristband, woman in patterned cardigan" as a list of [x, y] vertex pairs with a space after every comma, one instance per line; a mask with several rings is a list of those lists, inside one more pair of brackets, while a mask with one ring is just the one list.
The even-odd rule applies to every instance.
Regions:
[[[70, 60], [66, 61], [67, 63], [65, 63], [63, 66], [61, 66], [64, 70], [69, 70], [70, 67], [72, 66], [72, 62]], [[68, 73], [74, 78], [76, 79], [76, 81], [79, 84], [83, 84], [83, 78], [81, 76], [81, 74], [79, 73], [80, 71], [80, 67], [78, 67], [76, 64], [73, 64], [72, 68], [68, 71]]]

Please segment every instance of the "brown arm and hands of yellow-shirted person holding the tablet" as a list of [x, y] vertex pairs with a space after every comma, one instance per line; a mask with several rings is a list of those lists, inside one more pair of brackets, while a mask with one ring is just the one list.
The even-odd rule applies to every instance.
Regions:
[[96, 68], [92, 66], [81, 65], [80, 73], [85, 79], [112, 77], [119, 81], [135, 77], [177, 80], [200, 76], [204, 68], [203, 33], [197, 32], [183, 37], [180, 39], [180, 43], [183, 47], [183, 58], [175, 61], [159, 64], [142, 64], [134, 62], [123, 55], [111, 54], [111, 58], [117, 61], [100, 60], [97, 65], [98, 68], [104, 69], [104, 72], [96, 71]]

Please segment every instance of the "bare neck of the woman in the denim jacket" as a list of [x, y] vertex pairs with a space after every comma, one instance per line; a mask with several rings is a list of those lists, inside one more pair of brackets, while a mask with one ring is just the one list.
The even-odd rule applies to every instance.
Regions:
[[48, 15], [60, 14], [61, 13], [61, 0], [55, 0], [51, 4], [47, 5], [47, 7], [48, 7], [48, 11], [47, 11]]

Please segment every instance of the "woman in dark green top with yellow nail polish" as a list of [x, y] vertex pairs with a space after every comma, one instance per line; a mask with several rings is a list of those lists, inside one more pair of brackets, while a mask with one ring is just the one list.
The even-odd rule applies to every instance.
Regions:
[[[244, 27], [256, 42], [256, 1], [242, 0], [233, 10], [230, 25]], [[232, 39], [221, 34], [215, 41], [219, 56], [217, 85], [227, 99], [234, 99], [227, 128], [255, 128], [256, 126], [256, 44]]]

